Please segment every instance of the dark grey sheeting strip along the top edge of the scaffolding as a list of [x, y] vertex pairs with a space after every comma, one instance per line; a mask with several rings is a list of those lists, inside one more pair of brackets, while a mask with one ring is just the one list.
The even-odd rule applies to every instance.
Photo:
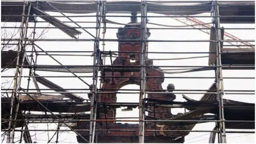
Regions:
[[[92, 13], [96, 12], [97, 4], [91, 1], [49, 1], [54, 7], [63, 13]], [[34, 2], [33, 4], [36, 4]], [[39, 2], [40, 9], [45, 12], [56, 12], [53, 7], [47, 5], [45, 2]], [[108, 12], [140, 12], [141, 2], [136, 1], [110, 1], [107, 2], [106, 10]], [[165, 15], [196, 15], [201, 13], [210, 13], [212, 3], [209, 1], [202, 1], [197, 4], [163, 4], [163, 3], [147, 3], [147, 11], [157, 14]], [[5, 15], [21, 15], [23, 10], [23, 2], [1, 2], [2, 14]], [[20, 6], [12, 6], [20, 5]], [[33, 6], [33, 5], [32, 5]], [[236, 2], [236, 3], [221, 3], [220, 15], [254, 15], [254, 1], [252, 2]], [[33, 14], [33, 12], [32, 12]], [[30, 20], [33, 20], [30, 18]], [[19, 17], [6, 18], [2, 17], [2, 21], [21, 21]], [[237, 17], [237, 18], [220, 18], [222, 23], [254, 23], [254, 18]]]

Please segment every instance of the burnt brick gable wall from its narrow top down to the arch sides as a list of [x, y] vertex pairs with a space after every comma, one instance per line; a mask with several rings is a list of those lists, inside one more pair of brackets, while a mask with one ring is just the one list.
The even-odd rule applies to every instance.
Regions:
[[[130, 26], [125, 26], [130, 27]], [[133, 26], [134, 27], [134, 26]], [[149, 31], [147, 32], [147, 36], [149, 36]], [[117, 33], [118, 39], [140, 39], [140, 30], [139, 29], [118, 29]], [[120, 66], [139, 66], [140, 65], [140, 53], [129, 53], [132, 52], [140, 52], [141, 44], [140, 42], [118, 42], [118, 51], [123, 53], [118, 53], [118, 58], [116, 58], [113, 62], [114, 65]], [[121, 57], [121, 58], [120, 58]], [[130, 58], [135, 58], [135, 62], [131, 62]], [[149, 64], [149, 63], [148, 63]], [[153, 63], [151, 62], [151, 65]], [[146, 69], [147, 76], [149, 77], [161, 77], [164, 76], [163, 73], [147, 68]], [[112, 76], [112, 72], [105, 72], [105, 76]], [[140, 73], [139, 72], [115, 72], [114, 76], [134, 76], [136, 78], [103, 78], [103, 85], [101, 89], [120, 89], [121, 87], [129, 84], [137, 84], [140, 85]], [[146, 81], [146, 89], [150, 90], [163, 90], [162, 83], [164, 82], [163, 78], [147, 78]], [[115, 92], [109, 90], [109, 92]], [[167, 100], [167, 95], [165, 94], [148, 94], [148, 98], [159, 99], [159, 100]], [[108, 93], [101, 94], [100, 102], [116, 102], [116, 94]], [[127, 101], [129, 102], [129, 101]], [[150, 107], [151, 110], [153, 108]], [[166, 108], [156, 108], [156, 117], [165, 118], [166, 117]], [[109, 111], [107, 114], [109, 117], [115, 117], [115, 110]], [[154, 114], [149, 113], [149, 116], [154, 116]], [[103, 118], [103, 117], [102, 117]]]

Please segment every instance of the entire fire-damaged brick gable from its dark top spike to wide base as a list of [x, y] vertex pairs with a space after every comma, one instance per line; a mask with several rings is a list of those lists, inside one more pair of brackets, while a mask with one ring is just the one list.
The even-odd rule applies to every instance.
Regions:
[[[137, 27], [137, 28], [134, 28]], [[132, 22], [127, 24], [125, 28], [119, 28], [117, 33], [118, 39], [138, 39], [140, 40], [140, 24], [134, 20], [132, 17]], [[146, 31], [146, 37], [150, 36], [149, 30]], [[97, 101], [105, 103], [115, 103], [117, 101], [116, 90], [121, 89], [125, 85], [137, 84], [140, 85], [140, 68], [132, 68], [129, 66], [140, 66], [140, 49], [141, 43], [138, 42], [118, 42], [118, 57], [113, 61], [113, 65], [119, 65], [121, 67], [110, 67], [101, 69], [101, 76], [105, 76], [101, 79], [102, 87], [106, 92], [101, 93], [101, 97], [97, 95]], [[146, 49], [148, 49], [148, 44], [146, 44]], [[129, 51], [129, 52], [128, 52]], [[147, 57], [147, 55], [146, 55]], [[153, 66], [153, 60], [146, 59], [147, 66]], [[122, 67], [125, 66], [125, 67]], [[111, 69], [111, 70], [109, 70]], [[111, 78], [111, 76], [117, 76]], [[119, 76], [119, 77], [118, 77]], [[120, 77], [125, 76], [125, 77]], [[160, 68], [146, 68], [147, 77], [160, 77], [160, 78], [146, 78], [146, 88], [150, 90], [163, 90], [162, 83], [164, 82], [164, 74]], [[171, 91], [171, 90], [170, 90]], [[151, 94], [148, 93], [147, 98], [163, 100], [163, 101], [173, 101], [174, 95], [158, 93]], [[148, 102], [150, 103], [150, 102]], [[151, 102], [152, 103], [152, 102]], [[154, 103], [154, 102], [153, 102]], [[137, 107], [137, 106], [136, 106]], [[99, 117], [97, 119], [106, 119], [106, 117], [116, 117], [117, 107], [99, 107], [97, 112]], [[156, 119], [166, 119], [172, 117], [171, 109], [164, 107], [146, 107], [149, 117], [154, 117]], [[113, 119], [113, 118], [111, 118]], [[77, 123], [76, 129], [89, 129], [90, 122], [79, 122]], [[98, 132], [97, 130], [101, 130]], [[153, 131], [157, 130], [156, 131]], [[156, 125], [154, 122], [145, 123], [145, 133], [144, 140], [146, 143], [157, 142], [157, 143], [172, 143], [172, 142], [184, 142], [184, 137], [188, 133], [184, 132], [163, 132], [161, 130], [186, 130], [186, 126], [166, 126], [166, 125]], [[97, 134], [98, 132], [98, 134]], [[89, 139], [89, 131], [79, 132], [84, 138]], [[95, 133], [97, 136], [98, 143], [138, 143], [139, 137], [139, 124], [122, 124], [116, 123], [115, 121], [110, 122], [99, 122], [97, 123]], [[174, 141], [174, 139], [179, 138], [179, 141]], [[78, 142], [84, 142], [81, 138], [77, 137]], [[96, 141], [95, 141], [96, 142]]]

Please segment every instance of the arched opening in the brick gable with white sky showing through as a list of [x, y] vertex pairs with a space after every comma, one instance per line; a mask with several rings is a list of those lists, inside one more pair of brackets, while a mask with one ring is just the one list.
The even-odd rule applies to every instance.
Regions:
[[[131, 89], [134, 91], [127, 91], [125, 89]], [[139, 92], [140, 89], [139, 85], [136, 84], [129, 84], [121, 87], [118, 92]], [[135, 91], [137, 90], [137, 91]], [[117, 93], [116, 94], [116, 102], [130, 102], [130, 103], [139, 103], [139, 94], [136, 93]], [[116, 109], [116, 119], [117, 120], [139, 120], [139, 108], [129, 108], [129, 107], [121, 107]], [[124, 117], [133, 117], [133, 118], [124, 118]], [[134, 118], [136, 117], [136, 118]], [[139, 122], [117, 122], [117, 123], [129, 123], [135, 124]]]

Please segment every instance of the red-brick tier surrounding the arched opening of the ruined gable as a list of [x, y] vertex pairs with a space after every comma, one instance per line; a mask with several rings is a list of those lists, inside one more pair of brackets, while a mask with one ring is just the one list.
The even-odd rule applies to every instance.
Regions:
[[[164, 76], [163, 73], [161, 73], [158, 70], [154, 69], [146, 69], [147, 76], [149, 77], [158, 77], [158, 76]], [[106, 76], [112, 76], [111, 72], [106, 72]], [[116, 102], [117, 97], [116, 93], [119, 89], [121, 89], [125, 85], [129, 84], [137, 84], [140, 85], [140, 78], [139, 72], [124, 72], [124, 76], [137, 76], [137, 78], [114, 78], [114, 81], [112, 78], [108, 80], [107, 82], [103, 83], [101, 89], [105, 89], [105, 91], [108, 91], [110, 93], [103, 93], [101, 94], [101, 102]], [[120, 73], [115, 72], [114, 76], [120, 76]], [[163, 78], [148, 78], [146, 81], [146, 89], [149, 90], [163, 90], [162, 83], [164, 82]], [[112, 90], [107, 90], [112, 89]], [[156, 91], [160, 92], [160, 91]], [[168, 96], [167, 94], [158, 93], [158, 94], [147, 94], [147, 98], [151, 99], [158, 99], [158, 100], [167, 100]], [[154, 110], [153, 107], [149, 107], [149, 110]], [[158, 118], [166, 118], [167, 114], [167, 108], [156, 108], [156, 117]], [[107, 117], [115, 117], [116, 116], [116, 109], [113, 109], [108, 112]], [[148, 113], [148, 116], [154, 116], [154, 113]], [[103, 117], [102, 117], [103, 118]]]

